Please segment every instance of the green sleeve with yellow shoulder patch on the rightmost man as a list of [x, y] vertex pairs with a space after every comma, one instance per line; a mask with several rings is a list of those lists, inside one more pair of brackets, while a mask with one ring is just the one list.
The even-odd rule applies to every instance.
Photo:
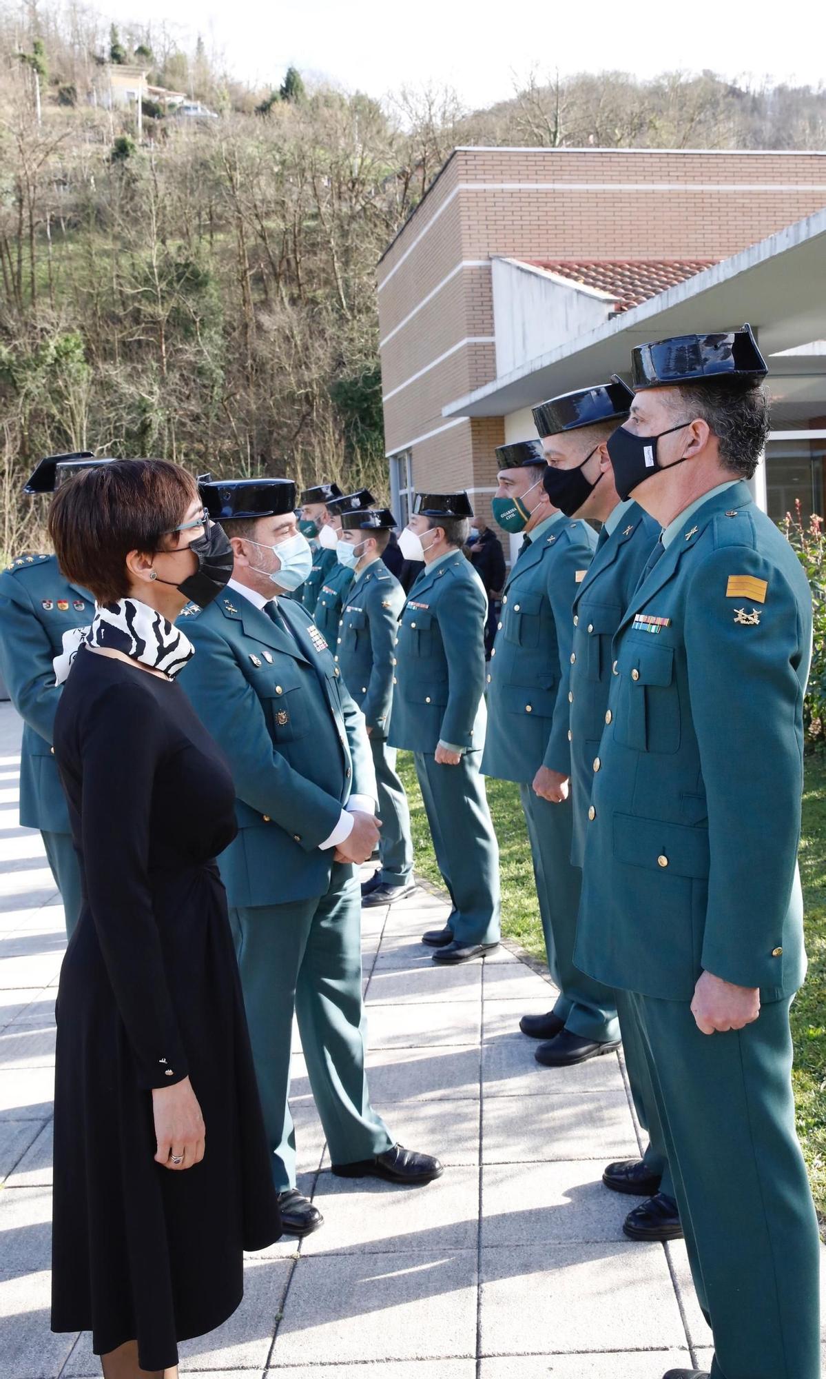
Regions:
[[[727, 597], [731, 575], [754, 581], [752, 597]], [[793, 590], [757, 552], [728, 546], [699, 565], [686, 655], [709, 816], [702, 965], [738, 986], [781, 985], [775, 950], [800, 841], [804, 641]]]

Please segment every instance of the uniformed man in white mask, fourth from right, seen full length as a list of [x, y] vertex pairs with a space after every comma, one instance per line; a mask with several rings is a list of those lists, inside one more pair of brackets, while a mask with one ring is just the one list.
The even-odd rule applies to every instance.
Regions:
[[461, 552], [472, 516], [465, 492], [417, 494], [399, 536], [424, 570], [399, 623], [390, 743], [413, 753], [453, 905], [446, 927], [423, 938], [434, 963], [467, 963], [500, 940], [498, 845], [479, 775], [487, 596]]

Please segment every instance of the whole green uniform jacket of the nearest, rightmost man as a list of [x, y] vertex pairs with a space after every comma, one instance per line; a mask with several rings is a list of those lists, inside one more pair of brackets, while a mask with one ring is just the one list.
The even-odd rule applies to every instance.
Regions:
[[[658, 629], [658, 630], [651, 630]], [[702, 969], [803, 980], [797, 877], [807, 578], [745, 483], [694, 512], [614, 640], [574, 961], [688, 1001]]]

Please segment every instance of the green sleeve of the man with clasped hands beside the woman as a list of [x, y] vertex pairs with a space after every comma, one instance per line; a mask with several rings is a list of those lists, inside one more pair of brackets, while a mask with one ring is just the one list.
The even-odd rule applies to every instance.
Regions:
[[304, 852], [314, 852], [341, 818], [341, 803], [293, 771], [275, 750], [262, 702], [229, 643], [197, 619], [187, 634], [197, 654], [180, 684], [226, 753], [235, 794], [290, 837], [297, 834]]

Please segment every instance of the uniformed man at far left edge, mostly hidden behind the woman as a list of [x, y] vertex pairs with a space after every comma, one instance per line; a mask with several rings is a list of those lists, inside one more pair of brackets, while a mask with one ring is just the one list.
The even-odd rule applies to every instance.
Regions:
[[[40, 461], [23, 492], [51, 494], [80, 470], [106, 463], [91, 451], [50, 455]], [[40, 829], [69, 936], [80, 916], [80, 869], [52, 752], [61, 696], [52, 661], [63, 651], [63, 633], [88, 627], [94, 612], [92, 594], [69, 583], [54, 556], [21, 556], [0, 575], [0, 672], [23, 720], [21, 825]]]

